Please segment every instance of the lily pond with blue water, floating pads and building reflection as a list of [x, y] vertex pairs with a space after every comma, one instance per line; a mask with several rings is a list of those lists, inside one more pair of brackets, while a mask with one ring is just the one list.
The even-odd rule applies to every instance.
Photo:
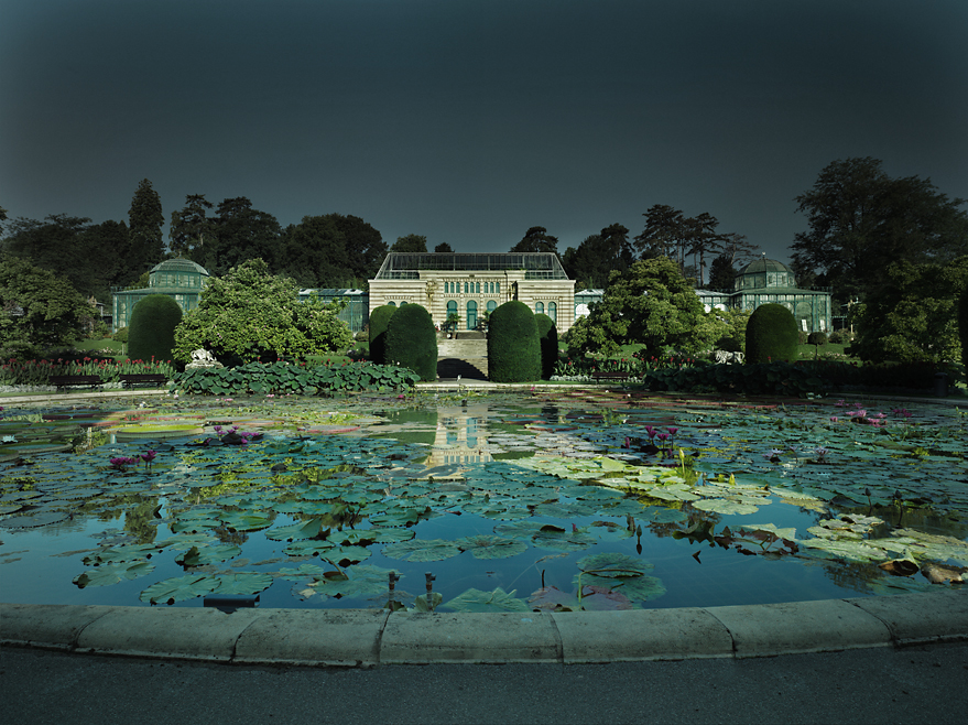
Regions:
[[953, 408], [575, 390], [0, 414], [11, 603], [717, 606], [960, 586], [922, 572], [968, 565]]

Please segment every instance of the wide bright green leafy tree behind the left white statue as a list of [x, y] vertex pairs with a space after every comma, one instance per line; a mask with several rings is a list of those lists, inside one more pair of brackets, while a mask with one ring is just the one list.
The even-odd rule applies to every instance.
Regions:
[[352, 333], [338, 312], [335, 303], [300, 302], [292, 280], [269, 274], [261, 259], [249, 260], [202, 290], [198, 307], [175, 331], [175, 359], [187, 361], [202, 347], [228, 364], [347, 347]]

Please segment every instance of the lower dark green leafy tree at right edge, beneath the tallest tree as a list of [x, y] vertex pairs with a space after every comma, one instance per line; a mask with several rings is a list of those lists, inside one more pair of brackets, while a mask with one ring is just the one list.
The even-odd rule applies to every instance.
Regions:
[[891, 264], [860, 305], [851, 350], [874, 362], [957, 362], [958, 300], [966, 291], [968, 256], [947, 264]]

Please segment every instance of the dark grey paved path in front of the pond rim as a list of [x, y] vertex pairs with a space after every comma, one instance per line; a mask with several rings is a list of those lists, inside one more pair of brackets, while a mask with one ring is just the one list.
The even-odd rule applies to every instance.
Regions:
[[0, 722], [929, 723], [966, 718], [968, 643], [614, 664], [252, 667], [0, 649]]

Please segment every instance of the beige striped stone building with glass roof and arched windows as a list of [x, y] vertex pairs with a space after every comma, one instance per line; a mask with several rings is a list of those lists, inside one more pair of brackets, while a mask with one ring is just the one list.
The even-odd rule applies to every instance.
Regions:
[[370, 312], [384, 304], [418, 304], [443, 326], [449, 312], [458, 329], [474, 329], [481, 313], [519, 300], [555, 321], [558, 334], [575, 323], [575, 282], [557, 256], [544, 253], [387, 256], [370, 280]]

